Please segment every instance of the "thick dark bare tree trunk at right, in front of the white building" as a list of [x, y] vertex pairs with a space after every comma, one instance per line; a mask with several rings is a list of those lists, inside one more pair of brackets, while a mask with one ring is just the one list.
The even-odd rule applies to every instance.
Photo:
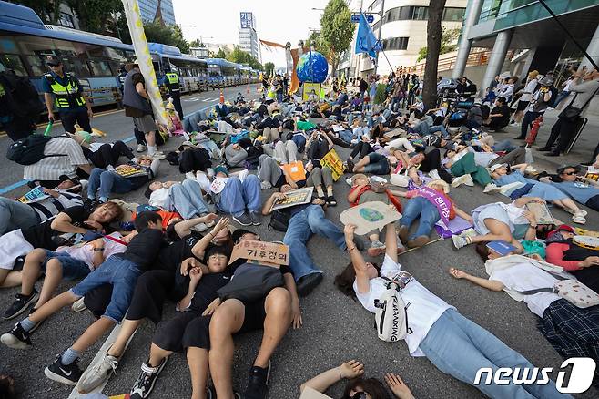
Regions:
[[426, 26], [426, 66], [424, 67], [424, 87], [422, 100], [427, 108], [437, 103], [437, 63], [441, 51], [441, 20], [445, 0], [431, 0], [429, 3], [429, 23]]

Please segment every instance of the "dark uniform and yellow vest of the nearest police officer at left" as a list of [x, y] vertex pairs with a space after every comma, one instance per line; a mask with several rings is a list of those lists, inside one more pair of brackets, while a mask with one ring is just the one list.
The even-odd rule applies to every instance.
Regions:
[[92, 131], [86, 98], [83, 97], [83, 88], [76, 77], [67, 73], [64, 77], [59, 77], [54, 72], [48, 72], [42, 78], [42, 89], [44, 93], [54, 96], [54, 104], [65, 131], [75, 133], [75, 123], [86, 132]]

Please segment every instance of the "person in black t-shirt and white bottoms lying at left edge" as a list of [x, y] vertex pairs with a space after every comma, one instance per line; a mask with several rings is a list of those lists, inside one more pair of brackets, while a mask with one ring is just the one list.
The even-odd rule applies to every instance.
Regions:
[[36, 248], [55, 251], [61, 244], [57, 236], [63, 233], [86, 234], [89, 230], [103, 230], [107, 223], [120, 219], [122, 214], [123, 211], [113, 202], [98, 206], [92, 212], [76, 206], [66, 208], [56, 218], [43, 223], [7, 232], [0, 237], [0, 285], [11, 274], [11, 279], [21, 283], [20, 271], [13, 271], [17, 258]]

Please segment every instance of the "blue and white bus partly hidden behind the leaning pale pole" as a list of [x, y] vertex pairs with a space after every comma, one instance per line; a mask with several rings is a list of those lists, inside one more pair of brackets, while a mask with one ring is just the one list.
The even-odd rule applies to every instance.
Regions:
[[197, 56], [181, 54], [175, 46], [160, 43], [148, 43], [156, 75], [162, 83], [165, 67], [178, 73], [181, 92], [202, 91], [208, 89], [208, 64]]

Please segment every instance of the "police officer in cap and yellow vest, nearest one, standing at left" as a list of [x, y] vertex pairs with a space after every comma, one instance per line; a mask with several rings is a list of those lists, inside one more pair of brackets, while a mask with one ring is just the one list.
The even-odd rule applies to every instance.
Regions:
[[89, 119], [94, 116], [92, 107], [83, 93], [83, 87], [76, 79], [65, 73], [63, 63], [57, 56], [47, 56], [46, 64], [50, 73], [42, 78], [42, 91], [46, 100], [48, 119], [56, 119], [54, 110], [60, 116], [63, 128], [75, 133], [75, 123], [86, 132], [92, 131]]

